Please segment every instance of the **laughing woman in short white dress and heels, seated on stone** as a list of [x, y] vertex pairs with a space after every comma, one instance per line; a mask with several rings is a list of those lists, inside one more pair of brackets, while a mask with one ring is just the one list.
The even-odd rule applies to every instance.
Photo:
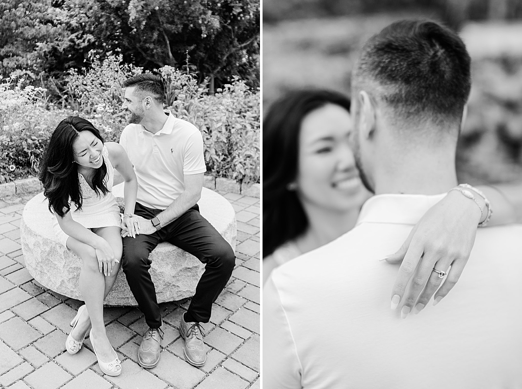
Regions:
[[122, 217], [111, 192], [114, 169], [125, 180], [123, 222], [136, 236], [138, 222], [133, 214], [138, 186], [133, 166], [121, 145], [104, 143], [90, 121], [62, 120], [52, 133], [40, 170], [49, 210], [56, 216], [55, 233], [82, 260], [79, 287], [85, 305], [71, 322], [66, 349], [76, 354], [92, 326], [89, 336], [100, 369], [113, 376], [121, 373], [121, 362], [105, 332], [103, 300], [114, 285], [122, 257]]

